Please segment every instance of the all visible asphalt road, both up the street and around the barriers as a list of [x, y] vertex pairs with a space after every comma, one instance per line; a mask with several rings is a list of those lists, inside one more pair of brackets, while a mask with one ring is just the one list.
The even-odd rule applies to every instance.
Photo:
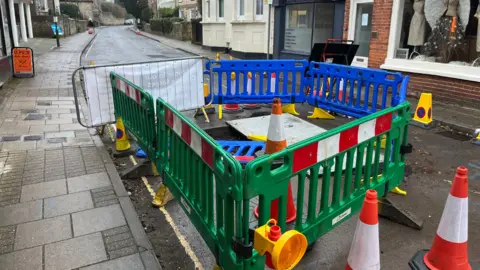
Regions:
[[[110, 27], [97, 31], [99, 36], [87, 52], [85, 63], [93, 60], [99, 65], [186, 56], [184, 52], [137, 36], [127, 27]], [[311, 108], [301, 109], [303, 116], [308, 110]], [[204, 120], [199, 118], [198, 121], [200, 123]], [[342, 122], [341, 119], [334, 121]], [[335, 126], [330, 120], [317, 120], [315, 124], [327, 129]], [[389, 198], [422, 219], [424, 228], [417, 231], [380, 219], [382, 269], [409, 269], [407, 263], [415, 252], [430, 248], [455, 168], [460, 165], [469, 169], [470, 261], [473, 269], [480, 264], [480, 246], [474, 244], [480, 241], [480, 146], [473, 145], [467, 138], [444, 131], [440, 127], [432, 130], [411, 127], [409, 130], [409, 142], [414, 145], [414, 152], [406, 157], [407, 176], [401, 185], [408, 195], [389, 194]], [[124, 167], [128, 160], [119, 160], [117, 163], [119, 168]], [[159, 178], [149, 177], [154, 189], [160, 181]], [[150, 193], [140, 179], [124, 180], [124, 183], [132, 193], [132, 201], [164, 269], [212, 269], [214, 258], [211, 252], [177, 201], [171, 201], [166, 206], [169, 213], [169, 217], [166, 217], [150, 206]], [[174, 227], [168, 219], [173, 221]], [[358, 215], [354, 215], [320, 238], [296, 269], [344, 269], [357, 220]], [[185, 241], [179, 240], [179, 234]], [[193, 253], [189, 254], [189, 250]]]

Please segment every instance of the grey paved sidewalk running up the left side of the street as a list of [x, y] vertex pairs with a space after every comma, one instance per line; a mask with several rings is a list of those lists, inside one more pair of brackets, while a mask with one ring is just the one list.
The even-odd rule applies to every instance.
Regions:
[[92, 37], [62, 39], [34, 78], [0, 90], [3, 270], [160, 269], [108, 152], [76, 120], [70, 76]]

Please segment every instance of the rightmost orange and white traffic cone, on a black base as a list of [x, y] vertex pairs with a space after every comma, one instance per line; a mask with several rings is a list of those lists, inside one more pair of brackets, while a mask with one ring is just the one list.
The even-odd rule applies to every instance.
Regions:
[[437, 234], [423, 261], [429, 269], [469, 270], [468, 170], [458, 167]]

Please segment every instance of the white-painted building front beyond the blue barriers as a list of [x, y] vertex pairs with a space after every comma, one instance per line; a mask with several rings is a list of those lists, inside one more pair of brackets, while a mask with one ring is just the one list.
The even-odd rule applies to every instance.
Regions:
[[[268, 4], [265, 0], [203, 0], [203, 46], [231, 49], [238, 58], [264, 58], [267, 54]], [[273, 49], [273, 8], [270, 49]]]

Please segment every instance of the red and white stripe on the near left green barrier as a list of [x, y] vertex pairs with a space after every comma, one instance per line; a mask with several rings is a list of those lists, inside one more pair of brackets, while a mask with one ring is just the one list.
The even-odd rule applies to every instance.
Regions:
[[173, 131], [182, 138], [199, 155], [210, 168], [213, 168], [214, 149], [213, 146], [205, 141], [200, 134], [192, 131], [192, 128], [168, 108], [165, 108], [165, 121]]

